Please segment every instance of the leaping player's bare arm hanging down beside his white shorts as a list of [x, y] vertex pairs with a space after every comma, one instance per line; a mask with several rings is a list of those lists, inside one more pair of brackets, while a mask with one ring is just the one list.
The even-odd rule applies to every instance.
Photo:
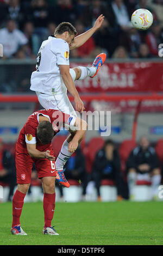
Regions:
[[82, 113], [85, 107], [84, 107], [83, 101], [79, 97], [78, 91], [72, 80], [72, 76], [70, 75], [70, 66], [59, 65], [59, 68], [60, 68], [62, 80], [64, 81], [68, 92], [74, 97], [76, 111]]

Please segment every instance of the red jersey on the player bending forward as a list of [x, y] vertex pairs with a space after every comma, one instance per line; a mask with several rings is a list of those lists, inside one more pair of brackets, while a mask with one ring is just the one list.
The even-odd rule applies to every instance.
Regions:
[[37, 126], [39, 125], [39, 115], [47, 117], [52, 123], [54, 136], [59, 132], [61, 124], [67, 123], [68, 125], [74, 125], [76, 121], [76, 117], [74, 115], [65, 114], [54, 109], [41, 109], [34, 112], [29, 116], [26, 124], [24, 124], [22, 130], [20, 131], [20, 135], [18, 136], [16, 150], [20, 151], [20, 153], [27, 153], [26, 143], [36, 144], [36, 149], [39, 151], [51, 149], [51, 143], [44, 145], [36, 137], [36, 130]]

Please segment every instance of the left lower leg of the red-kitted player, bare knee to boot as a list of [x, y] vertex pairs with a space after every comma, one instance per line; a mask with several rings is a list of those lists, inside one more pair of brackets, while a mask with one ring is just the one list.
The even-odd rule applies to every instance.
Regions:
[[12, 235], [27, 235], [20, 225], [20, 217], [24, 204], [24, 197], [28, 192], [30, 184], [18, 184], [17, 190], [12, 198]]

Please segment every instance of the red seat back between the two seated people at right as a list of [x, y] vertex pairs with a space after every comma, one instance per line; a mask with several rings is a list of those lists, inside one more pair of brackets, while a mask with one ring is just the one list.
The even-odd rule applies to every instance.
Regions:
[[130, 139], [126, 139], [120, 145], [119, 153], [121, 157], [121, 169], [122, 172], [126, 169], [126, 160], [130, 154], [130, 151], [136, 147], [136, 142], [131, 141]]

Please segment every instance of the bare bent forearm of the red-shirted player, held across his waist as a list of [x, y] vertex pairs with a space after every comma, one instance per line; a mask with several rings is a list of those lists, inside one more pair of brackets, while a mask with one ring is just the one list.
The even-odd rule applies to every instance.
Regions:
[[28, 144], [26, 143], [27, 145], [27, 151], [28, 151], [28, 154], [31, 156], [31, 157], [34, 157], [34, 158], [47, 158], [48, 160], [55, 160], [55, 157], [54, 156], [51, 156], [49, 153], [50, 151], [49, 150], [46, 150], [45, 152], [42, 152], [42, 151], [39, 151], [36, 149], [36, 144]]

